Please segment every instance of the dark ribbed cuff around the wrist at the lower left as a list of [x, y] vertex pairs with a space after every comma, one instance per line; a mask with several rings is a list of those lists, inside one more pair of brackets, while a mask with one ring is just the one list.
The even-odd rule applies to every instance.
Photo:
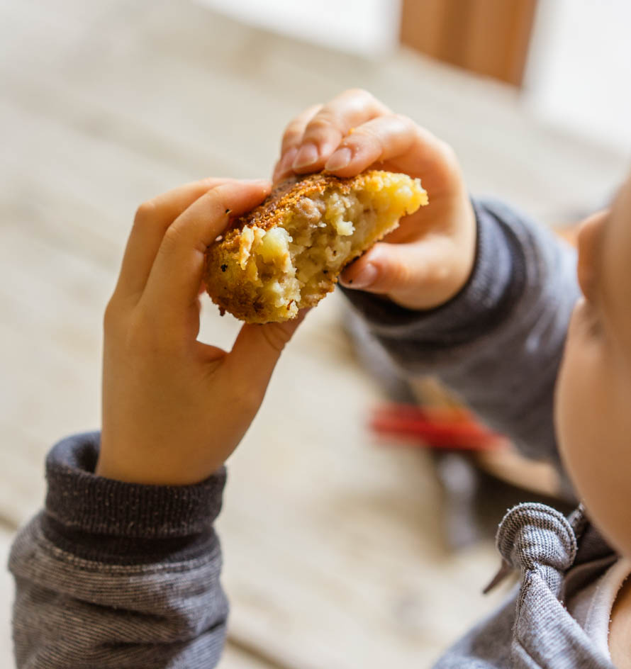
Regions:
[[[45, 534], [60, 547], [112, 561], [199, 549], [221, 508], [225, 468], [196, 485], [140, 485], [94, 474], [99, 432], [56, 444], [46, 459]], [[145, 561], [145, 559], [143, 559]]]

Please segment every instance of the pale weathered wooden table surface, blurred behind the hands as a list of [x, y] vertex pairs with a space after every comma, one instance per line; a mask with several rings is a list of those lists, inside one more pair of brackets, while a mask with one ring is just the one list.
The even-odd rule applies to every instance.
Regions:
[[[99, 425], [101, 315], [138, 203], [207, 175], [269, 174], [284, 124], [363, 86], [454, 145], [471, 191], [545, 221], [599, 206], [625, 158], [530, 118], [515, 91], [401, 51], [302, 45], [182, 1], [0, 4], [0, 533], [38, 507], [56, 439]], [[504, 591], [488, 541], [442, 541], [427, 454], [376, 444], [382, 398], [327, 298], [237, 454], [219, 531], [223, 667], [425, 666]], [[202, 337], [238, 323], [207, 303]], [[11, 581], [0, 580], [0, 664]]]

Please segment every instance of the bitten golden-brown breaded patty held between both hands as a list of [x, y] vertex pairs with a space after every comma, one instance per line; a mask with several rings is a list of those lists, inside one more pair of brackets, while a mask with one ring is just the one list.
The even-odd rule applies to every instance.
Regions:
[[204, 281], [221, 313], [289, 320], [333, 291], [340, 271], [428, 203], [419, 179], [372, 170], [279, 184], [206, 251]]

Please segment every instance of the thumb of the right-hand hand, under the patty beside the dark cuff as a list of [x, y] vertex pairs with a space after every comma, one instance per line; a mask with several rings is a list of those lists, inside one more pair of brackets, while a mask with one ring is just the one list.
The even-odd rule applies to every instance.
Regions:
[[411, 309], [428, 309], [457, 293], [460, 263], [447, 237], [408, 244], [380, 242], [340, 276], [347, 288], [387, 295]]

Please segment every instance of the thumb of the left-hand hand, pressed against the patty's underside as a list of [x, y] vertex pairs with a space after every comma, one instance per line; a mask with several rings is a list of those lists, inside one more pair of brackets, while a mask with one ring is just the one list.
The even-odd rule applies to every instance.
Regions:
[[296, 318], [282, 323], [243, 325], [227, 361], [235, 366], [235, 374], [247, 376], [252, 386], [267, 388], [284, 347], [307, 312], [308, 309], [301, 310]]

